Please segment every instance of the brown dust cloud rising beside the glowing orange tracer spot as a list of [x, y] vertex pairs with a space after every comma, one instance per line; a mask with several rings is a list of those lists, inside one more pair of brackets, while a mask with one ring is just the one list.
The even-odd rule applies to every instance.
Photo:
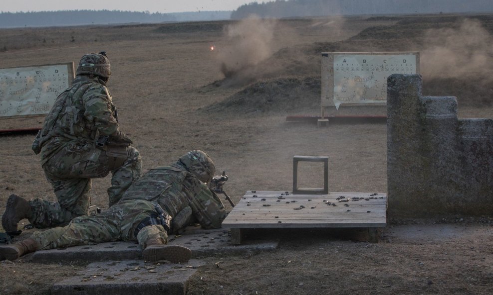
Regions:
[[217, 56], [226, 78], [245, 72], [272, 54], [271, 43], [276, 24], [274, 19], [250, 16], [226, 27], [227, 45], [219, 49]]

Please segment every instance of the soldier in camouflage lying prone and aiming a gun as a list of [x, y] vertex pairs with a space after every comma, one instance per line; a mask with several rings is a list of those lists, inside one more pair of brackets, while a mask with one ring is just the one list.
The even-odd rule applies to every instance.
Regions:
[[137, 241], [147, 261], [186, 262], [190, 249], [166, 245], [168, 234], [194, 219], [220, 228], [226, 217], [221, 199], [208, 185], [216, 168], [203, 151], [191, 151], [170, 165], [148, 171], [121, 200], [95, 216], [79, 216], [65, 227], [36, 231], [21, 242], [0, 246], [0, 259], [15, 260], [37, 250], [117, 240]]

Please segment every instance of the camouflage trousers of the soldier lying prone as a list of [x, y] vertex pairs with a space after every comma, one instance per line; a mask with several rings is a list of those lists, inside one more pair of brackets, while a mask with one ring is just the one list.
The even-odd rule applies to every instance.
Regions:
[[96, 216], [80, 216], [67, 226], [36, 231], [31, 238], [40, 245], [38, 250], [119, 240], [138, 241], [142, 249], [149, 239], [160, 239], [166, 244], [168, 235], [162, 225], [148, 225], [137, 238], [134, 235], [137, 225], [155, 212], [154, 205], [140, 199], [121, 201]]

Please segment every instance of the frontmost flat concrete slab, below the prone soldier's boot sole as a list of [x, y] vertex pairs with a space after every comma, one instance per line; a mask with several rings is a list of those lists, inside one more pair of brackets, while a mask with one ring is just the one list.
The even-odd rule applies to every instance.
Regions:
[[142, 260], [91, 263], [75, 276], [56, 283], [52, 295], [184, 295], [200, 260], [187, 264]]

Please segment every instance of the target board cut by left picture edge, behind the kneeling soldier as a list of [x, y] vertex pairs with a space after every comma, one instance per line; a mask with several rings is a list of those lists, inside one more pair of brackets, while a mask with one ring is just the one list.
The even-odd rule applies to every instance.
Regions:
[[0, 69], [0, 119], [46, 115], [73, 78], [72, 62]]

